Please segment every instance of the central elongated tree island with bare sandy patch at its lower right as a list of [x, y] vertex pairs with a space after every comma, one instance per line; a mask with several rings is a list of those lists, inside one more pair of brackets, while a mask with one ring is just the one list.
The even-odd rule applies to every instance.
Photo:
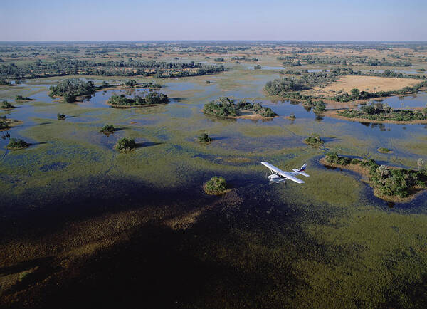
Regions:
[[263, 117], [274, 117], [277, 114], [271, 110], [271, 108], [265, 108], [260, 103], [249, 103], [244, 100], [240, 100], [238, 103], [234, 103], [227, 97], [218, 98], [206, 103], [203, 108], [203, 112], [208, 115], [214, 115], [218, 117], [238, 117], [239, 112], [251, 111], [255, 114]]

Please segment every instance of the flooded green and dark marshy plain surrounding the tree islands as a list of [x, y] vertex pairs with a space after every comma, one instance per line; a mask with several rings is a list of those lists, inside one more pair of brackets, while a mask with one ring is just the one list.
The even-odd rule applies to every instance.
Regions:
[[[16, 106], [0, 111], [16, 123], [0, 132], [1, 306], [426, 306], [427, 192], [392, 203], [376, 197], [363, 175], [319, 162], [334, 151], [387, 166], [423, 168], [417, 163], [427, 160], [426, 124], [335, 119], [328, 110], [337, 106], [327, 98], [326, 112], [316, 112], [300, 100], [265, 90], [266, 83], [283, 77], [337, 67], [371, 70], [354, 56], [386, 58], [391, 66], [382, 61], [374, 69], [402, 75], [340, 75], [337, 81], [312, 87], [325, 95], [353, 88], [371, 93], [413, 87], [426, 79], [425, 72], [417, 71], [427, 68], [426, 44], [157, 42], [106, 48], [94, 42], [3, 47], [0, 67], [14, 63], [22, 70], [2, 76], [11, 85], [0, 85], [0, 100]], [[48, 48], [55, 49], [54, 55]], [[396, 63], [396, 55], [401, 62]], [[290, 63], [283, 63], [286, 56], [293, 57], [285, 60]], [[354, 63], [333, 63], [334, 56], [353, 57], [348, 61]], [[58, 58], [194, 61], [212, 71], [203, 73], [193, 65], [193, 75], [181, 76], [190, 69], [175, 66], [174, 76], [167, 77], [169, 69], [162, 65], [157, 75], [151, 69], [139, 75], [129, 75], [131, 70], [84, 75], [87, 70], [78, 68], [75, 75], [59, 76], [54, 74]], [[46, 66], [26, 71], [26, 63], [38, 60]], [[301, 66], [294, 66], [297, 60]], [[313, 61], [319, 63], [309, 63]], [[261, 68], [253, 69], [255, 64]], [[224, 70], [214, 69], [219, 65]], [[132, 66], [137, 72], [139, 64]], [[107, 105], [111, 95], [149, 92], [144, 88], [107, 88], [75, 103], [49, 97], [51, 86], [69, 78], [92, 80], [95, 86], [131, 79], [154, 82], [169, 103], [126, 109]], [[15, 102], [16, 95], [32, 100]], [[277, 116], [228, 119], [202, 112], [206, 103], [221, 97], [262, 103]], [[380, 100], [396, 109], [425, 108], [427, 103], [423, 88]], [[359, 100], [339, 104], [362, 106]], [[66, 118], [58, 120], [59, 114]], [[105, 124], [115, 131], [102, 134]], [[211, 141], [195, 142], [203, 133]], [[312, 134], [322, 137], [320, 147], [305, 144]], [[117, 152], [114, 146], [122, 137], [134, 139], [135, 149]], [[9, 150], [10, 138], [30, 145]], [[307, 162], [310, 177], [302, 185], [271, 185], [261, 161], [288, 171]], [[225, 194], [204, 192], [203, 184], [213, 176], [226, 179]]]

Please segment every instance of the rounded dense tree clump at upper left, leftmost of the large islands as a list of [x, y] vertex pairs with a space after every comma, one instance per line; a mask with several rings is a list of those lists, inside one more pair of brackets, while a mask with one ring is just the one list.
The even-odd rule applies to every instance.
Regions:
[[80, 95], [93, 95], [95, 85], [92, 81], [83, 81], [78, 78], [60, 80], [58, 85], [51, 86], [49, 95], [51, 97], [63, 97], [64, 103], [73, 103]]

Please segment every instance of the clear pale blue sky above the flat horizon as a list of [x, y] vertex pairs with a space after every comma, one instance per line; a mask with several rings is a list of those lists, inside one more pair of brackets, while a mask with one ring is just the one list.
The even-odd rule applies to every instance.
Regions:
[[1, 1], [0, 41], [427, 41], [427, 0]]

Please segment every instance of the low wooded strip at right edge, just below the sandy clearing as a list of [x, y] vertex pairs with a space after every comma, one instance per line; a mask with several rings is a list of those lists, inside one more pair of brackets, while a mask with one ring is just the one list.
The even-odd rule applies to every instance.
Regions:
[[341, 110], [337, 115], [347, 118], [359, 118], [378, 121], [413, 121], [427, 120], [427, 108], [417, 110], [395, 110], [381, 102], [362, 105], [360, 110]]

